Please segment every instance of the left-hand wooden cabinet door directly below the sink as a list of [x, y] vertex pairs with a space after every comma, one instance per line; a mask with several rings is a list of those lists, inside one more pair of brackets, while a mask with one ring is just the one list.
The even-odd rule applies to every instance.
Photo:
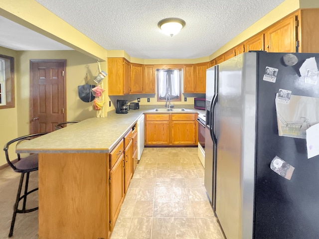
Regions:
[[146, 121], [145, 143], [169, 144], [169, 121]]

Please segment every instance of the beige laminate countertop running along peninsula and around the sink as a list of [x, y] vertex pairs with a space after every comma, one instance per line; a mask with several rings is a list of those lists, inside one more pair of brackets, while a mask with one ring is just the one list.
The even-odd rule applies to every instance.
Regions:
[[[183, 112], [156, 112], [163, 106], [141, 106], [140, 110], [130, 110], [128, 114], [108, 112], [106, 118], [90, 118], [52, 131], [29, 141], [21, 142], [19, 153], [108, 153], [133, 127], [142, 114], [204, 114], [191, 105], [178, 106]], [[177, 107], [176, 107], [177, 108]]]

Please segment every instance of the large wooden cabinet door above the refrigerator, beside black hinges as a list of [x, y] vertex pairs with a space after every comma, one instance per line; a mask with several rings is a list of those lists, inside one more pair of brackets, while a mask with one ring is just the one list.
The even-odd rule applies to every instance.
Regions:
[[288, 16], [266, 31], [268, 52], [296, 52], [295, 15]]

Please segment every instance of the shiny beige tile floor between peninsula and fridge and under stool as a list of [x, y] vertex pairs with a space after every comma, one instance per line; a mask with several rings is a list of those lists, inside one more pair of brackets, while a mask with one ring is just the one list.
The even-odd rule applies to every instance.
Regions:
[[[19, 176], [0, 170], [0, 239], [8, 238]], [[203, 185], [197, 148], [145, 148], [111, 239], [223, 239]], [[28, 206], [36, 205], [34, 193]], [[12, 239], [37, 239], [37, 230], [37, 211], [18, 214]]]

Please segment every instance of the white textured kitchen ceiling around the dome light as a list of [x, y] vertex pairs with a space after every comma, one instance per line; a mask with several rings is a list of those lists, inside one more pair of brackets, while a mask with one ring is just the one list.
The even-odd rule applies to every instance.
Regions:
[[[36, 0], [107, 50], [137, 58], [208, 56], [284, 0]], [[167, 17], [185, 20], [173, 37]]]

